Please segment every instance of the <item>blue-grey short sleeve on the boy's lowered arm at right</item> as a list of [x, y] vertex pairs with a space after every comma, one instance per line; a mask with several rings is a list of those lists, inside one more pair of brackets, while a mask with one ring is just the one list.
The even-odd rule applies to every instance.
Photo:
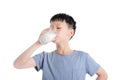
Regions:
[[96, 61], [87, 54], [86, 57], [86, 71], [90, 76], [93, 76], [98, 69], [100, 68], [100, 65], [96, 63]]

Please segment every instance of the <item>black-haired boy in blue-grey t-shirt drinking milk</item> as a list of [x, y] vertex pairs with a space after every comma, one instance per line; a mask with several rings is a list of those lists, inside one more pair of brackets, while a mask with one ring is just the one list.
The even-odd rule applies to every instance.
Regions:
[[43, 45], [36, 41], [15, 60], [14, 67], [35, 67], [37, 71], [42, 69], [43, 80], [85, 80], [86, 73], [91, 76], [97, 74], [97, 80], [107, 80], [104, 69], [87, 53], [70, 48], [69, 40], [76, 30], [74, 19], [70, 15], [59, 13], [51, 18], [50, 23], [50, 28], [43, 30], [41, 35], [52, 29], [56, 33], [52, 40], [56, 44], [56, 50], [31, 57]]

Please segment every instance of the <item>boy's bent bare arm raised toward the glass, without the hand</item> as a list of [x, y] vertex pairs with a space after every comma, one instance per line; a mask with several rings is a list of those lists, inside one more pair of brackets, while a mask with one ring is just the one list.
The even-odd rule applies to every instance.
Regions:
[[38, 49], [42, 44], [40, 42], [35, 42], [32, 46], [30, 46], [27, 50], [25, 50], [15, 61], [14, 67], [17, 69], [35, 67], [36, 63], [34, 59], [31, 57], [33, 52]]

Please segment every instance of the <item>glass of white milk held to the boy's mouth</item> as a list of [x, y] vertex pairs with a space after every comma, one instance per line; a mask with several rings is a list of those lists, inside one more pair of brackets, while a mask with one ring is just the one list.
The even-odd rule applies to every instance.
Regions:
[[55, 38], [56, 34], [54, 31], [49, 31], [45, 34], [42, 34], [40, 37], [39, 37], [39, 42], [41, 44], [47, 44], [48, 42], [51, 42], [53, 40], [53, 38]]

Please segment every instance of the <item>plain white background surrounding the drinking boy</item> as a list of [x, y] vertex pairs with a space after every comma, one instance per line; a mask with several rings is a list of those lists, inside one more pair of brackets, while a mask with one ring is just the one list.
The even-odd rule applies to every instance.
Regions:
[[[0, 80], [42, 79], [42, 71], [18, 70], [13, 62], [59, 12], [70, 14], [77, 22], [71, 47], [88, 52], [107, 71], [108, 80], [120, 80], [119, 0], [0, 0]], [[49, 43], [33, 55], [54, 48]], [[87, 75], [86, 80], [95, 78]]]

